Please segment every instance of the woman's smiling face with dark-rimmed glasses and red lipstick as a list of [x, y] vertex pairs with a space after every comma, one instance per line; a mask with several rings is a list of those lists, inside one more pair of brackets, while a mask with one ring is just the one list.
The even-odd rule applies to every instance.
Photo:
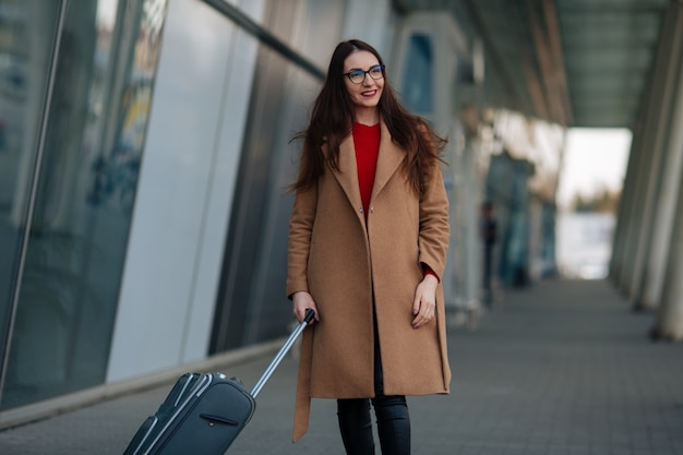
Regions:
[[[346, 60], [344, 60], [344, 73], [348, 74], [357, 70], [370, 71], [373, 67], [379, 64], [378, 58], [372, 52], [358, 50], [351, 52]], [[378, 75], [376, 68], [374, 74], [375, 76]], [[358, 79], [361, 76], [358, 76]], [[384, 77], [375, 80], [372, 79], [369, 73], [363, 73], [362, 81], [358, 83], [351, 82], [348, 75], [344, 76], [344, 82], [357, 111], [359, 109], [374, 109], [380, 103], [382, 89], [384, 88]]]

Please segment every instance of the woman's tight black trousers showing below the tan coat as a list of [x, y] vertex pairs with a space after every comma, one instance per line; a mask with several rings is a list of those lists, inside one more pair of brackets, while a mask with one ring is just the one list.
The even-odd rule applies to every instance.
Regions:
[[374, 398], [337, 399], [339, 432], [347, 455], [374, 455], [370, 405], [378, 420], [382, 455], [410, 455], [410, 417], [404, 395], [384, 395], [382, 358], [375, 321]]

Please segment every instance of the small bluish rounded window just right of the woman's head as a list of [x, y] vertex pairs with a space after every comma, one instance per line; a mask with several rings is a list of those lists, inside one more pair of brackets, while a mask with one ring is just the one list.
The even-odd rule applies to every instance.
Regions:
[[402, 97], [415, 113], [430, 113], [433, 107], [434, 65], [432, 38], [415, 34], [408, 40], [408, 53], [403, 74]]

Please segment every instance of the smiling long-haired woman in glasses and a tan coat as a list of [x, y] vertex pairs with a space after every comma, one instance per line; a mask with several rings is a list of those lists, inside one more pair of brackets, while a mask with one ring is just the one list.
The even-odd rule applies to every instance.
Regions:
[[397, 101], [378, 51], [340, 43], [303, 140], [287, 296], [304, 332], [293, 441], [310, 398], [336, 398], [347, 454], [410, 453], [406, 395], [448, 393], [445, 141]]

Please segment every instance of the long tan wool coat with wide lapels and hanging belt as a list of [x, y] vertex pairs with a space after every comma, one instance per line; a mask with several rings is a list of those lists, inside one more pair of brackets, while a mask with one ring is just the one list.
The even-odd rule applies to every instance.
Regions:
[[[323, 153], [326, 151], [323, 149]], [[400, 170], [406, 156], [382, 123], [380, 155], [366, 223], [354, 140], [339, 148], [339, 170], [326, 169], [315, 188], [299, 191], [289, 230], [287, 296], [309, 291], [320, 322], [304, 331], [293, 441], [308, 429], [310, 398], [374, 396], [372, 296], [386, 395], [448, 393], [443, 288], [436, 316], [411, 326], [420, 263], [443, 276], [448, 201], [440, 166], [422, 197]]]

